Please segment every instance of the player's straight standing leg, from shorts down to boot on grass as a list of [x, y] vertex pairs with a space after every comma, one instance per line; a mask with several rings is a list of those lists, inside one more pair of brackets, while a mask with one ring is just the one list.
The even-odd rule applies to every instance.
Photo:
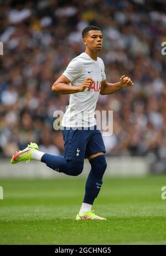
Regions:
[[[99, 151], [99, 152], [97, 152]], [[97, 152], [97, 153], [94, 153]], [[104, 219], [98, 217], [93, 211], [91, 211], [92, 204], [95, 198], [100, 192], [102, 185], [103, 174], [105, 173], [107, 163], [104, 153], [106, 152], [103, 144], [101, 133], [96, 133], [92, 136], [87, 144], [86, 155], [89, 156], [89, 162], [91, 164], [91, 170], [86, 180], [85, 185], [85, 197], [81, 205], [79, 214], [76, 219]], [[93, 154], [94, 153], [94, 154]]]

